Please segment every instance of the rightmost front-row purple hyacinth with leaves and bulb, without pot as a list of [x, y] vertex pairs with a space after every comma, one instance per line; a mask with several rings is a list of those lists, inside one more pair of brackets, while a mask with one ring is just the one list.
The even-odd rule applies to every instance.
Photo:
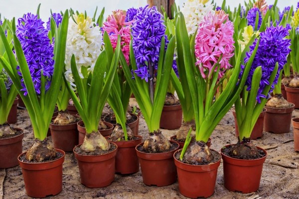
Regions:
[[[235, 110], [239, 128], [239, 141], [232, 147], [232, 157], [250, 150], [250, 157], [259, 157], [258, 149], [250, 142], [250, 135], [254, 125], [262, 112], [274, 85], [278, 83], [280, 72], [287, 63], [291, 49], [289, 39], [290, 27], [271, 26], [261, 32], [259, 40], [256, 39], [250, 46], [244, 63], [252, 62], [242, 97], [235, 101]], [[258, 46], [254, 60], [250, 57]], [[244, 65], [240, 73], [243, 80]]]

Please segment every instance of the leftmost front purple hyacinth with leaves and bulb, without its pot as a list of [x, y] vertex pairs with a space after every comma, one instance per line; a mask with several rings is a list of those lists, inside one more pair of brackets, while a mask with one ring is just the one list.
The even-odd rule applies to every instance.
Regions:
[[16, 26], [15, 19], [12, 20], [16, 57], [8, 36], [6, 38], [0, 28], [0, 37], [7, 53], [7, 58], [1, 56], [0, 62], [26, 105], [33, 127], [35, 140], [26, 158], [37, 162], [56, 157], [56, 150], [47, 142], [46, 136], [62, 82], [68, 11], [64, 13], [60, 27], [55, 30], [54, 49], [43, 23], [31, 13], [19, 18]]

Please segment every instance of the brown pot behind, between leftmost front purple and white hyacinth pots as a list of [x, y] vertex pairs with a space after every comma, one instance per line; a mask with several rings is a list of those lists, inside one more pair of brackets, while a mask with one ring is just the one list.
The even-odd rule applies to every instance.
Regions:
[[[79, 116], [76, 116], [77, 118]], [[54, 120], [56, 117], [53, 117]], [[50, 123], [52, 141], [54, 148], [61, 149], [65, 152], [73, 151], [74, 147], [78, 145], [79, 133], [77, 129], [77, 122], [67, 125], [56, 125]]]

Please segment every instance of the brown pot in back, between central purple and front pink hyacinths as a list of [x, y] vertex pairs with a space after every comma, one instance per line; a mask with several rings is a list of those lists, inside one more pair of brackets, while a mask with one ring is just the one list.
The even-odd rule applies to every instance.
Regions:
[[172, 130], [181, 127], [182, 125], [182, 106], [164, 105], [160, 118], [160, 128]]

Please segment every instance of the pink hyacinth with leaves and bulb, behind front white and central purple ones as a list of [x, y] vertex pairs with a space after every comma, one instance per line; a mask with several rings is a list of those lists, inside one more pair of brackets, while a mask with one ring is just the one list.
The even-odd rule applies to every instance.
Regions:
[[[118, 37], [120, 37], [121, 51], [125, 56], [127, 64], [130, 65], [130, 29], [132, 21], [125, 22], [127, 17], [128, 14], [125, 10], [113, 11], [113, 14], [107, 17], [102, 29], [108, 33], [112, 44], [112, 46], [107, 45], [109, 42], [104, 41], [106, 44], [106, 51], [115, 51]], [[132, 16], [130, 15], [129, 18], [131, 19]], [[127, 120], [131, 120], [132, 118], [132, 116], [127, 112], [131, 94], [132, 90], [128, 81], [126, 81], [123, 67], [119, 65], [117, 68], [117, 75], [113, 81], [111, 92], [108, 96], [108, 103], [114, 112], [116, 122], [120, 125], [117, 125], [114, 128], [114, 131], [111, 134], [112, 140], [128, 140], [128, 138], [132, 140], [134, 138], [131, 128], [126, 125]]]

